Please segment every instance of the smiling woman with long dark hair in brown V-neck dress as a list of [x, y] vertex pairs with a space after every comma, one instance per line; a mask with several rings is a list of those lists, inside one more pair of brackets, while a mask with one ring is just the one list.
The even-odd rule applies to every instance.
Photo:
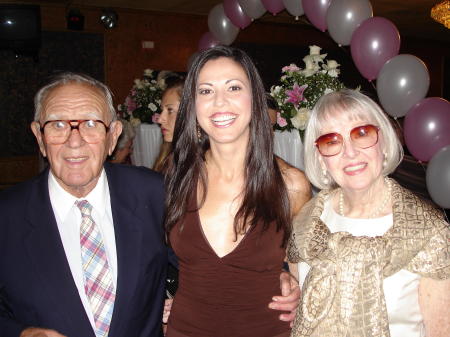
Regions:
[[273, 154], [264, 87], [243, 51], [220, 46], [194, 60], [166, 182], [180, 270], [167, 336], [288, 336], [268, 304], [310, 187]]

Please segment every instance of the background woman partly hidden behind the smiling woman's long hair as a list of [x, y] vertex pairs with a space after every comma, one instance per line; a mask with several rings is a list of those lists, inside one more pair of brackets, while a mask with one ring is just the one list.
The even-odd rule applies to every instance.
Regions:
[[172, 150], [173, 130], [175, 128], [181, 94], [183, 92], [184, 79], [178, 76], [170, 76], [166, 78], [165, 81], [167, 86], [162, 94], [162, 112], [158, 118], [158, 123], [161, 125], [161, 133], [163, 135], [163, 143], [158, 158], [153, 165], [155, 171], [162, 173], [167, 170], [167, 159]]

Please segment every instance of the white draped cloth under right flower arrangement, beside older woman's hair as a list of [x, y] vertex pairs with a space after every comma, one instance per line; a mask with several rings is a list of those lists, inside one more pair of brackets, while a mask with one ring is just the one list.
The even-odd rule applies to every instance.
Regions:
[[286, 162], [304, 171], [303, 144], [297, 130], [274, 132], [274, 152]]

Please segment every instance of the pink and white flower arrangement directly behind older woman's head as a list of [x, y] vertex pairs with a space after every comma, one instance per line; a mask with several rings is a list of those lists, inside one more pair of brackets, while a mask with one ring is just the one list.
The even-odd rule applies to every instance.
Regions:
[[339, 90], [344, 85], [339, 81], [339, 64], [326, 60], [318, 46], [309, 47], [309, 55], [303, 58], [305, 69], [295, 64], [282, 68], [280, 85], [272, 86], [270, 94], [278, 103], [276, 130], [297, 129], [303, 138], [311, 110], [324, 94]]

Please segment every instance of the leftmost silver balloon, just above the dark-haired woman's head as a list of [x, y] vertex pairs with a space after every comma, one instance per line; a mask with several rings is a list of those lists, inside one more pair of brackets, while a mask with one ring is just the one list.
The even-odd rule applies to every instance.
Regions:
[[239, 27], [233, 25], [223, 9], [223, 4], [214, 6], [208, 14], [209, 31], [222, 44], [228, 46], [239, 34]]

